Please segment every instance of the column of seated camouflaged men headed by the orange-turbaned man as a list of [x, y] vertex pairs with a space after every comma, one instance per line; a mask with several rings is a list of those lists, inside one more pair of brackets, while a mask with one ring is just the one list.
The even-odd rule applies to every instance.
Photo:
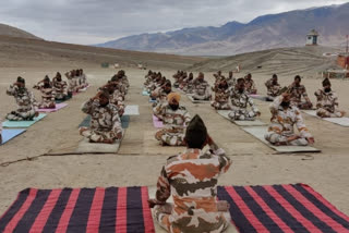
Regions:
[[164, 125], [164, 128], [155, 134], [155, 138], [163, 146], [184, 146], [184, 132], [191, 115], [181, 105], [180, 94], [172, 91], [171, 81], [166, 79], [160, 73], [149, 72], [145, 78], [145, 88], [152, 87], [148, 90], [151, 99], [154, 100], [153, 113]]

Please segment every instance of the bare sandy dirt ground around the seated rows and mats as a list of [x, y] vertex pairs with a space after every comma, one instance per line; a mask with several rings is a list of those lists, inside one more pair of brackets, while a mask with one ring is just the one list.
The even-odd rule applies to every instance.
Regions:
[[[84, 66], [83, 66], [84, 68]], [[0, 116], [15, 108], [5, 89], [19, 75], [32, 87], [45, 74], [68, 71], [71, 66], [45, 68], [0, 68]], [[111, 69], [84, 68], [92, 87], [77, 95], [69, 106], [50, 113], [28, 131], [0, 147], [0, 163], [31, 158], [47, 152], [73, 151], [82, 137], [77, 125], [84, 119], [81, 105], [94, 96], [96, 89], [115, 73]], [[174, 70], [161, 70], [170, 77]], [[276, 71], [277, 72], [277, 71]], [[131, 89], [128, 105], [139, 105], [141, 115], [131, 116], [118, 155], [44, 156], [33, 160], [19, 161], [0, 167], [0, 212], [15, 199], [16, 194], [27, 187], [96, 187], [96, 186], [154, 186], [166, 158], [183, 148], [161, 147], [154, 138], [156, 128], [152, 123], [152, 109], [147, 97], [141, 95], [146, 71], [127, 70]], [[195, 73], [196, 75], [196, 73]], [[242, 74], [241, 74], [242, 75]], [[239, 76], [239, 75], [238, 75]], [[212, 82], [212, 73], [206, 73]], [[260, 93], [265, 94], [265, 75], [254, 75]], [[292, 76], [280, 76], [280, 83], [288, 85]], [[313, 101], [313, 93], [321, 86], [321, 79], [304, 78], [303, 83]], [[349, 82], [333, 81], [333, 88], [339, 95], [340, 108], [349, 112]], [[36, 96], [39, 97], [38, 93]], [[268, 103], [256, 101], [262, 111], [262, 120], [269, 121]], [[275, 155], [275, 151], [260, 140], [244, 133], [218, 115], [209, 105], [194, 105], [182, 96], [191, 115], [200, 114], [212, 135], [233, 161], [219, 185], [264, 185], [305, 183], [315, 188], [339, 210], [349, 214], [349, 128], [303, 115], [315, 137], [315, 147], [321, 154]]]

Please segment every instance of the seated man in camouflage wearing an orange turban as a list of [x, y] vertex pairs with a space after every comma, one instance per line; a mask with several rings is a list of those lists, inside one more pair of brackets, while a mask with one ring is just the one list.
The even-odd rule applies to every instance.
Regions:
[[185, 107], [180, 106], [181, 96], [177, 93], [168, 95], [168, 105], [156, 108], [156, 115], [161, 115], [164, 130], [156, 133], [155, 138], [163, 146], [184, 146], [184, 130], [191, 116]]

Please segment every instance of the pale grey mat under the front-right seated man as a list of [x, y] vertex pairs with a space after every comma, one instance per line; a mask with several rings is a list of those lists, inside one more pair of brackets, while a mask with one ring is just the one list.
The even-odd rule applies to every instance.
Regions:
[[321, 152], [320, 149], [316, 149], [311, 146], [273, 146], [266, 139], [264, 139], [264, 135], [268, 131], [268, 126], [251, 126], [251, 127], [242, 127], [243, 131], [251, 134], [252, 136], [260, 139], [262, 143], [267, 145], [268, 147], [275, 149], [280, 154], [293, 154], [293, 152]]

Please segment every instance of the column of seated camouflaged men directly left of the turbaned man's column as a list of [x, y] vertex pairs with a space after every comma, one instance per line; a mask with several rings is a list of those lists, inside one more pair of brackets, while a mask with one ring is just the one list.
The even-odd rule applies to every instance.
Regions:
[[97, 95], [83, 103], [82, 111], [91, 115], [89, 127], [79, 128], [89, 143], [113, 144], [121, 140], [123, 130], [121, 116], [124, 113], [124, 98], [130, 87], [124, 71], [119, 71]]

